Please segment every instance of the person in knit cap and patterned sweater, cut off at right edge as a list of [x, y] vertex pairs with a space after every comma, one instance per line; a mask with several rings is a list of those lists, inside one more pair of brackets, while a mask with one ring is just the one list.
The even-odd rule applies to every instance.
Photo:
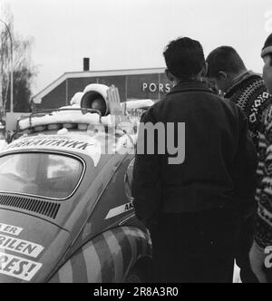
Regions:
[[[267, 38], [261, 56], [264, 60], [263, 77], [268, 92], [272, 93], [272, 34]], [[272, 283], [272, 106], [269, 107], [264, 121], [264, 133], [260, 145], [266, 150], [264, 158], [258, 163], [262, 180], [257, 188], [258, 203], [256, 233], [250, 250], [251, 267], [261, 283]]]

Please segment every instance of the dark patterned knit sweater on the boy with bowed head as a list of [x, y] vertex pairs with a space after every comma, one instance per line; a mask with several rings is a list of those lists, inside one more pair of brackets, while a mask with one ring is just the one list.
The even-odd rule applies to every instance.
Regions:
[[249, 133], [257, 148], [262, 121], [271, 103], [263, 79], [251, 71], [243, 73], [228, 90], [225, 98], [236, 103], [247, 115]]

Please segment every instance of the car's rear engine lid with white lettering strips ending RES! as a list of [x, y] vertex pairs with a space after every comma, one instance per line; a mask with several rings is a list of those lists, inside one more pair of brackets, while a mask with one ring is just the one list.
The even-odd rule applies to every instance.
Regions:
[[43, 282], [72, 244], [69, 232], [30, 215], [0, 209], [0, 282]]

